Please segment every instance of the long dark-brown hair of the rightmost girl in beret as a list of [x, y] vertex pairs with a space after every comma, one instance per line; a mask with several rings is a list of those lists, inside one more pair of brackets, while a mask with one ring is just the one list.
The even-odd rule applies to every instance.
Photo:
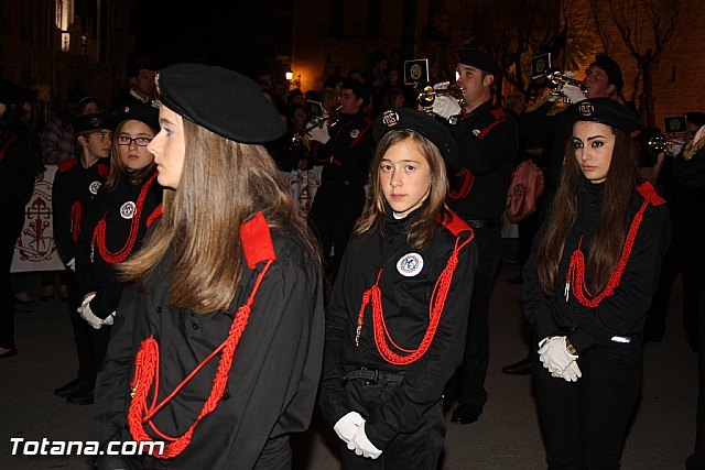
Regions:
[[[599, 207], [599, 223], [587, 253], [586, 277], [594, 292], [601, 292], [621, 254], [629, 215], [639, 183], [637, 149], [621, 130], [610, 128], [615, 147]], [[536, 274], [543, 291], [553, 293], [565, 240], [577, 218], [577, 193], [583, 173], [571, 139], [565, 149], [561, 181], [553, 199], [546, 234], [536, 253]], [[588, 183], [589, 184], [589, 183]]]

